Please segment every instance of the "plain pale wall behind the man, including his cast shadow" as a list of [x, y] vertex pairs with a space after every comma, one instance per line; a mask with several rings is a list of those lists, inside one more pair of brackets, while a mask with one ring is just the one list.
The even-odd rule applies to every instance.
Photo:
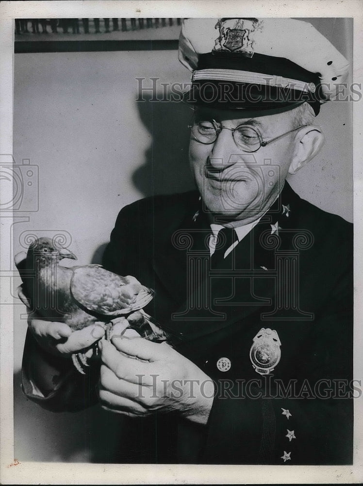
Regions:
[[[351, 58], [349, 20], [314, 22]], [[99, 262], [120, 208], [151, 194], [194, 187], [187, 160], [190, 109], [180, 103], [136, 102], [136, 77], [146, 78], [147, 86], [151, 77], [190, 81], [176, 51], [15, 55], [14, 157], [17, 164], [30, 159], [39, 168], [39, 209], [29, 213], [29, 222], [14, 225], [14, 254], [24, 250], [28, 233], [63, 232], [77, 264]], [[316, 121], [323, 127], [325, 146], [289, 178], [303, 198], [348, 221], [351, 119], [348, 103], [322, 106]], [[20, 461], [94, 460], [85, 428], [98, 423], [91, 435], [104, 434], [111, 450], [122, 418], [98, 407], [52, 414], [22, 396], [24, 312], [22, 305], [15, 307], [15, 456]]]

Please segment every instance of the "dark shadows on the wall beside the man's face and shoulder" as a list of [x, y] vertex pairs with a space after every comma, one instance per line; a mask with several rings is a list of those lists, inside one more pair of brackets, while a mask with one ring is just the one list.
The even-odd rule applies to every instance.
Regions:
[[[144, 197], [195, 189], [188, 160], [191, 108], [181, 102], [151, 101], [147, 95], [144, 98], [144, 102], [136, 103], [151, 142], [144, 165], [132, 174], [135, 188]], [[102, 263], [106, 245], [96, 249], [91, 263]]]

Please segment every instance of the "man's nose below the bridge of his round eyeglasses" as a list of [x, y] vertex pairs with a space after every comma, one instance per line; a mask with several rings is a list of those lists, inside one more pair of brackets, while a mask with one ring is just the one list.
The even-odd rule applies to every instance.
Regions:
[[219, 170], [234, 165], [241, 158], [241, 151], [234, 143], [233, 132], [222, 127], [209, 156], [210, 164]]

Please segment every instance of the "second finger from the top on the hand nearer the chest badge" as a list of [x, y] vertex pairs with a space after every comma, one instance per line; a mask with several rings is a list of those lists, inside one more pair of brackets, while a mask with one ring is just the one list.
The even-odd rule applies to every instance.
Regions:
[[[133, 341], [133, 339], [131, 341]], [[110, 368], [120, 380], [139, 383], [140, 377], [137, 375], [149, 375], [152, 371], [150, 370], [150, 363], [142, 363], [141, 361], [120, 354], [115, 346], [106, 340], [100, 341], [99, 348], [102, 350], [103, 363]]]

